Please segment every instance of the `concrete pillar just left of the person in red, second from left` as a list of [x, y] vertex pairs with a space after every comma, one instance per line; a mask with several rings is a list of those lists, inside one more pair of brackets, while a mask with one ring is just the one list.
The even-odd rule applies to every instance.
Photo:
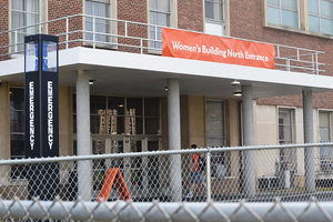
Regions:
[[[181, 149], [180, 88], [178, 79], [168, 80], [169, 150]], [[171, 201], [182, 201], [181, 155], [170, 157]]]

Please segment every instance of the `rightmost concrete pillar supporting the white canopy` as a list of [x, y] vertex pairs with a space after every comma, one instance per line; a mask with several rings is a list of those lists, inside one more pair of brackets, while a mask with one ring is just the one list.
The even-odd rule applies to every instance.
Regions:
[[[313, 143], [313, 105], [312, 90], [303, 91], [304, 143]], [[314, 148], [304, 149], [305, 190], [315, 192]]]

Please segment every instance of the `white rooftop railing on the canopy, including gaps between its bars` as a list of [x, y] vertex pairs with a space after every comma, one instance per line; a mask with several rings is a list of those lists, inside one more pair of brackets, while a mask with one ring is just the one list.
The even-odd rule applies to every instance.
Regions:
[[[23, 37], [34, 34], [37, 30], [58, 36], [60, 38], [60, 49], [83, 46], [92, 47], [93, 49], [107, 48], [141, 54], [161, 54], [162, 51], [161, 26], [74, 14], [0, 32], [0, 39], [8, 40], [7, 46], [0, 47], [0, 59], [23, 53]], [[232, 37], [223, 38], [239, 39]], [[274, 48], [276, 52], [275, 69], [278, 70], [311, 74], [325, 72], [321, 68], [324, 63], [319, 61], [319, 56], [324, 52], [281, 44], [274, 44]]]

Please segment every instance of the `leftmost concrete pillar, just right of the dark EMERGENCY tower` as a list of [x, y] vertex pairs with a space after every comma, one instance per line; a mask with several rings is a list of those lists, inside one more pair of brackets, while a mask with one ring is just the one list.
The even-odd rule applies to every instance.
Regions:
[[[89, 72], [83, 70], [77, 77], [77, 140], [78, 155], [91, 154]], [[82, 200], [91, 201], [91, 161], [78, 161], [78, 189]]]

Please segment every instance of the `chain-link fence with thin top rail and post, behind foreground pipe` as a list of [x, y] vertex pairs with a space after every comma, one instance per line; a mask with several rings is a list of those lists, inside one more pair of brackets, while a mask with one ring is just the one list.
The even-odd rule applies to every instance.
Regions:
[[[305, 149], [314, 149], [315, 168], [321, 147], [333, 143], [284, 144], [265, 147], [204, 148], [178, 151], [59, 157], [0, 161], [0, 193], [4, 200], [95, 201], [110, 185], [107, 200], [120, 199], [128, 189], [133, 201], [174, 202], [285, 202], [333, 200], [333, 176], [311, 174], [304, 164]], [[287, 162], [276, 162], [281, 149]], [[246, 159], [252, 152], [253, 160]], [[206, 170], [198, 171], [193, 154], [205, 155]], [[178, 157], [178, 158], [174, 158]], [[179, 162], [174, 163], [174, 160]], [[178, 165], [174, 168], [173, 165]], [[254, 171], [246, 171], [253, 168]], [[108, 171], [119, 169], [125, 186], [105, 182]], [[250, 173], [249, 173], [250, 172]], [[307, 173], [306, 173], [307, 172]], [[180, 176], [176, 176], [180, 175]], [[180, 181], [174, 181], [180, 178]], [[173, 180], [173, 181], [172, 181]], [[250, 181], [250, 182], [249, 182]], [[251, 183], [251, 181], [253, 183]], [[309, 184], [310, 183], [310, 184]], [[107, 186], [105, 186], [107, 185]], [[112, 186], [112, 188], [111, 188]], [[313, 188], [313, 189], [312, 189]], [[190, 194], [191, 193], [191, 194]]]

